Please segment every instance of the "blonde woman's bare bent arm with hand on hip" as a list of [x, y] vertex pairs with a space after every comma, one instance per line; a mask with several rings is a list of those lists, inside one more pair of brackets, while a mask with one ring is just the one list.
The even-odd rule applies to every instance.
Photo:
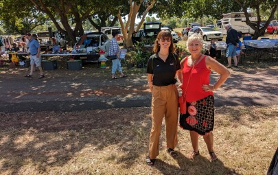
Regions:
[[205, 59], [206, 59], [205, 61], [206, 61], [207, 68], [213, 69], [214, 71], [219, 73], [220, 77], [217, 80], [217, 82], [213, 85], [207, 85], [207, 84], [202, 85], [202, 89], [204, 91], [216, 91], [216, 89], [220, 88], [220, 86], [227, 80], [227, 78], [229, 78], [231, 73], [229, 69], [224, 67], [224, 65], [220, 64], [218, 61], [214, 60], [210, 56], [207, 56], [207, 58]]

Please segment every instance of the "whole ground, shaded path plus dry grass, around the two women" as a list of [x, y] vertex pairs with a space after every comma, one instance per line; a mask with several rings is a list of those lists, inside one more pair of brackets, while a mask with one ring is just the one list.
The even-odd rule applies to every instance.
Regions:
[[[0, 67], [0, 174], [264, 174], [277, 145], [277, 69], [246, 60], [216, 91], [218, 163], [203, 141], [200, 158], [189, 161], [189, 135], [178, 129], [178, 159], [161, 134], [161, 154], [148, 167], [145, 69], [124, 68], [128, 78], [111, 80], [100, 65], [61, 66], [40, 80], [38, 71], [25, 78], [28, 69]], [[211, 83], [217, 78], [211, 73]]]

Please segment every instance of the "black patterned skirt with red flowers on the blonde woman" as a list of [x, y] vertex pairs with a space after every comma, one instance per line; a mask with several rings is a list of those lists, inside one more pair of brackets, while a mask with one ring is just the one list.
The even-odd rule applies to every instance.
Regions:
[[199, 135], [213, 130], [214, 97], [209, 95], [195, 102], [187, 102], [186, 114], [180, 115], [180, 126], [185, 130], [194, 130]]

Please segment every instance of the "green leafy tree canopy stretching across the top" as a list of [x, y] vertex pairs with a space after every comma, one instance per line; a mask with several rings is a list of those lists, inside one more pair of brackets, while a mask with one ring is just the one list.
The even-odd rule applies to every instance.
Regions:
[[[24, 34], [51, 21], [57, 30], [69, 36], [71, 43], [75, 43], [76, 36], [84, 34], [82, 25], [85, 21], [89, 21], [97, 30], [119, 21], [125, 43], [130, 47], [132, 32], [139, 30], [147, 14], [171, 19], [168, 23], [179, 26], [181, 23], [187, 25], [193, 19], [213, 21], [222, 19], [224, 13], [247, 14], [253, 11], [257, 13], [257, 23], [251, 23], [248, 17], [246, 23], [255, 30], [257, 37], [274, 19], [277, 5], [277, 0], [0, 0], [0, 23], [7, 33]], [[262, 16], [266, 24], [260, 28]], [[141, 17], [141, 21], [135, 27], [137, 17]]]

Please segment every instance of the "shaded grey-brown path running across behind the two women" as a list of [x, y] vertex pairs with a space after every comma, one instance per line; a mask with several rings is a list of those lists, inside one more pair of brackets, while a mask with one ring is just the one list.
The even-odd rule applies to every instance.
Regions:
[[[216, 106], [278, 104], [278, 66], [231, 69], [231, 77], [216, 91]], [[0, 111], [75, 111], [150, 106], [146, 75], [111, 80], [93, 76], [92, 69], [45, 71], [45, 78], [24, 78], [27, 69], [0, 71]], [[100, 69], [98, 69], [99, 71]], [[108, 70], [107, 70], [108, 71]], [[211, 82], [218, 78], [211, 73]]]

